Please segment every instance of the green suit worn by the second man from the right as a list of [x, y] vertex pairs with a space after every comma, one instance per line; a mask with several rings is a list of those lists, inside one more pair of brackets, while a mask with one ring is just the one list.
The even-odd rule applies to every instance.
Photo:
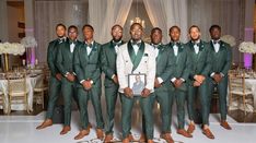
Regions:
[[[189, 73], [188, 80], [188, 116], [190, 120], [196, 119], [195, 111], [195, 100], [198, 97], [201, 108], [200, 112], [202, 116], [202, 124], [209, 124], [209, 114], [210, 114], [210, 93], [209, 93], [209, 74], [211, 71], [211, 53], [210, 46], [206, 41], [200, 40], [198, 44], [199, 52], [196, 53], [194, 44], [191, 41], [187, 43], [188, 52], [191, 56], [191, 65], [193, 69]], [[195, 87], [193, 83], [195, 82], [194, 76], [196, 74], [203, 75], [206, 80], [201, 83], [200, 86]]]

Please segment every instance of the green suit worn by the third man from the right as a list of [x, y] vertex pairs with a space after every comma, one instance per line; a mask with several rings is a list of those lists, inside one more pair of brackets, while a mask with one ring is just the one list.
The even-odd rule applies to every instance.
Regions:
[[[182, 43], [177, 43], [177, 55], [174, 53], [174, 43], [170, 43], [166, 45], [173, 56], [174, 60], [174, 71], [171, 75], [171, 80], [175, 81], [175, 79], [184, 80], [184, 83], [181, 87], [176, 88], [174, 84], [171, 85], [170, 97], [176, 98], [177, 105], [177, 119], [178, 119], [178, 129], [184, 129], [185, 124], [185, 100], [187, 98], [187, 81], [189, 76], [189, 72], [191, 70], [191, 59], [188, 53], [188, 47]], [[173, 99], [171, 99], [171, 106], [173, 106]]]

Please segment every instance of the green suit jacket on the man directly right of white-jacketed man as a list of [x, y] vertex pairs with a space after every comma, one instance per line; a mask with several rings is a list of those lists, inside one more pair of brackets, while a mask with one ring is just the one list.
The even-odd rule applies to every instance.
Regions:
[[159, 48], [159, 55], [156, 57], [156, 72], [155, 78], [163, 80], [163, 90], [170, 88], [171, 75], [174, 71], [174, 60], [171, 49], [166, 46], [161, 45]]

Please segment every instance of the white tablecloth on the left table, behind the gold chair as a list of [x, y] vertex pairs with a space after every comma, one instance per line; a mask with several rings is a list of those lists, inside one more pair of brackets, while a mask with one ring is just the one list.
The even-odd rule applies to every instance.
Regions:
[[[26, 78], [26, 86], [28, 88], [28, 96], [27, 96], [27, 104], [28, 104], [28, 109], [31, 111], [33, 111], [33, 88], [36, 85], [36, 82], [43, 80], [43, 75], [37, 75], [37, 76], [27, 76]], [[8, 112], [8, 106], [9, 106], [9, 98], [8, 98], [8, 80], [0, 80], [0, 91], [3, 92], [3, 99], [5, 102], [5, 107], [1, 107], [3, 108], [3, 111], [7, 114]], [[12, 110], [24, 110], [25, 109], [25, 105], [24, 104], [14, 104], [11, 106]]]

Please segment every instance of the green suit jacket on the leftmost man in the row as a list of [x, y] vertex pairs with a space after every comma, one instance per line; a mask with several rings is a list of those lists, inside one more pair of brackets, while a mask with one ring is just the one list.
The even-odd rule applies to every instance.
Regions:
[[47, 49], [47, 63], [50, 70], [50, 75], [55, 76], [57, 73], [60, 73], [58, 68], [57, 68], [57, 53], [58, 53], [58, 48], [62, 47], [65, 41], [59, 44], [58, 39], [55, 39], [49, 43], [48, 49]]

